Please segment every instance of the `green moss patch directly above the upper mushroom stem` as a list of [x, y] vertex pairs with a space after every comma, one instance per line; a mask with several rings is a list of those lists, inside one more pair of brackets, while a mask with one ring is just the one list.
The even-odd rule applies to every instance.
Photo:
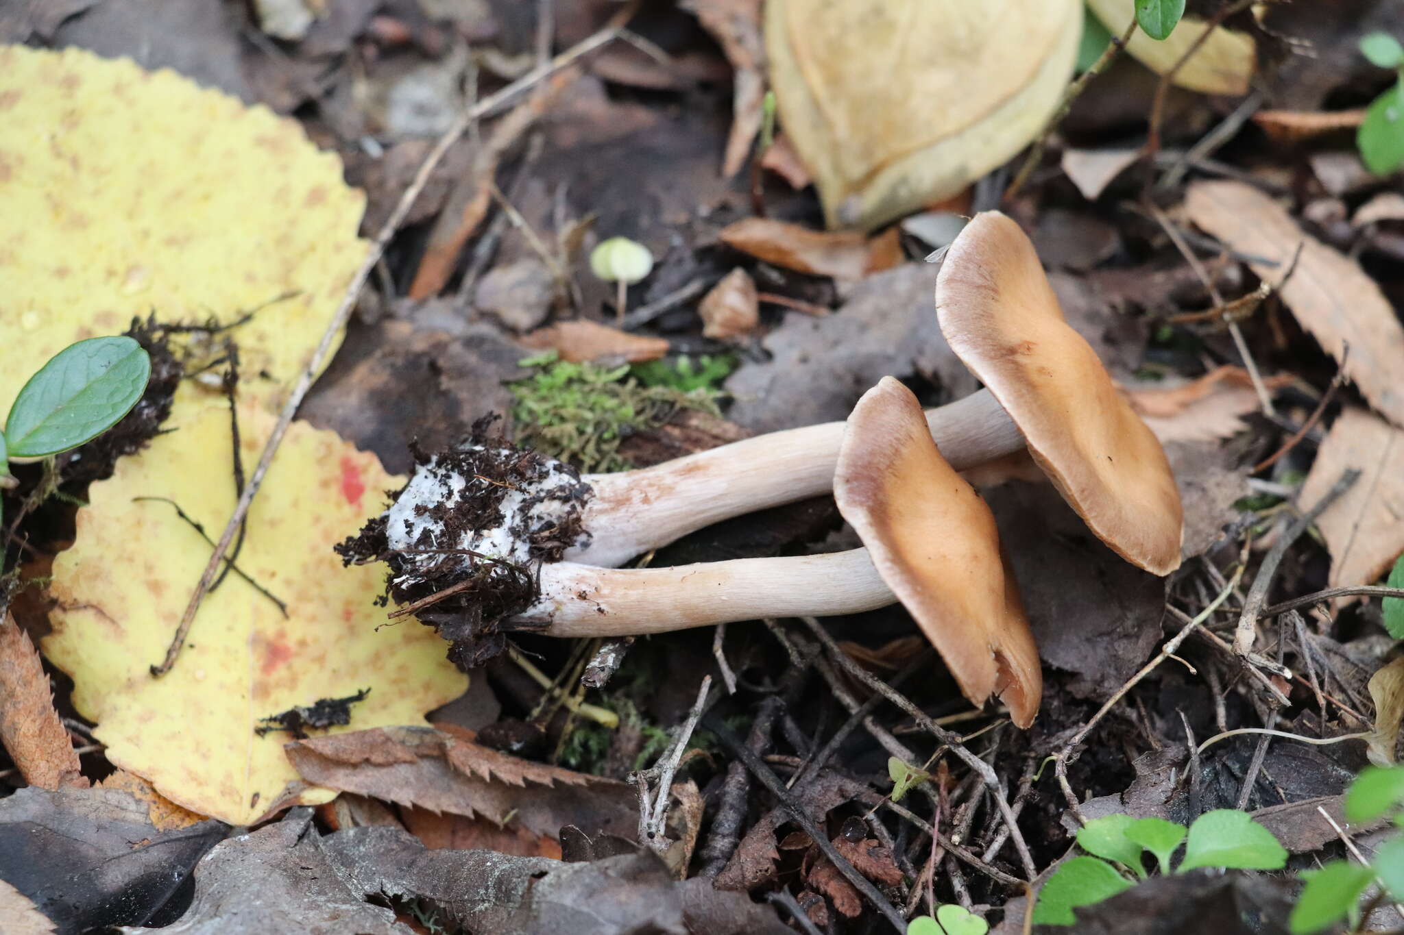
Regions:
[[[717, 363], [705, 363], [701, 370], [689, 363], [685, 374], [677, 370], [671, 377], [647, 371], [647, 378], [632, 373], [629, 364], [566, 363], [555, 352], [521, 363], [535, 371], [507, 384], [517, 443], [581, 471], [628, 470], [632, 465], [619, 454], [621, 442], [664, 425], [680, 408], [716, 415], [720, 394], [708, 384], [724, 377], [717, 376]], [[730, 364], [726, 367], [729, 371]]]

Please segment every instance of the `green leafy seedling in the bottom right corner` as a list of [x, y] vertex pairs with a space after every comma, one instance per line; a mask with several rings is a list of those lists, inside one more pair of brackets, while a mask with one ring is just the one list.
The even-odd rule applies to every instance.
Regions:
[[[1345, 792], [1345, 820], [1365, 824], [1386, 816], [1404, 826], [1404, 767], [1366, 767]], [[1377, 847], [1369, 865], [1327, 861], [1302, 878], [1306, 886], [1287, 920], [1293, 935], [1320, 932], [1341, 920], [1356, 927], [1360, 897], [1372, 886], [1380, 886], [1394, 901], [1404, 899], [1404, 835]]]

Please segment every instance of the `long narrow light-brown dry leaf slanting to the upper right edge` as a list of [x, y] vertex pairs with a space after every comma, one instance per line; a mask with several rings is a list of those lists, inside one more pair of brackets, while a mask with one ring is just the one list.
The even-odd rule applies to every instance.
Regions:
[[1346, 374], [1360, 393], [1394, 425], [1404, 425], [1404, 325], [1359, 264], [1307, 236], [1280, 205], [1244, 182], [1196, 182], [1185, 207], [1199, 227], [1234, 250], [1276, 261], [1250, 262], [1264, 280], [1276, 282], [1287, 271], [1299, 245], [1293, 275], [1280, 287], [1282, 299], [1302, 327], [1337, 360], [1345, 345]]

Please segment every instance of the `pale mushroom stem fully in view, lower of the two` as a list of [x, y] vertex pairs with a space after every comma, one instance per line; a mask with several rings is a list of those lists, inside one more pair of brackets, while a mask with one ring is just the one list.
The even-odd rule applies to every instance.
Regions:
[[541, 568], [541, 599], [517, 620], [550, 636], [633, 636], [762, 617], [833, 617], [896, 603], [866, 548], [674, 568]]

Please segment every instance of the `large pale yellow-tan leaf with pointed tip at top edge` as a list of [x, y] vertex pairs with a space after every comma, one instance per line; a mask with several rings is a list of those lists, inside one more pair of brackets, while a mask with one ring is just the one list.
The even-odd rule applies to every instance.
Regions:
[[828, 226], [869, 230], [1018, 153], [1057, 108], [1081, 32], [1075, 0], [767, 3], [781, 122]]

